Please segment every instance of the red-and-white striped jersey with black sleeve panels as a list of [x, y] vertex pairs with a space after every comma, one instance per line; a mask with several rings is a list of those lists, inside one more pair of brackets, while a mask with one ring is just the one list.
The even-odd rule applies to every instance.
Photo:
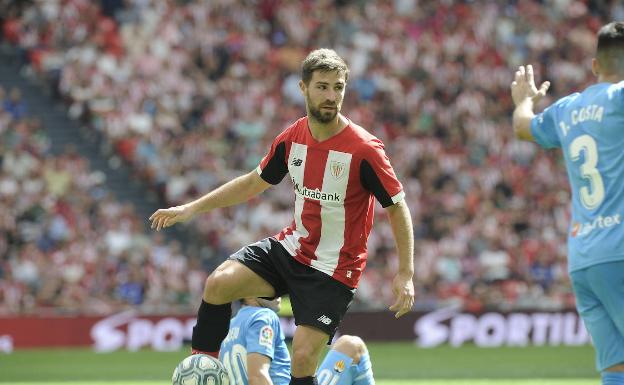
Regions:
[[290, 175], [294, 221], [275, 237], [299, 262], [355, 288], [366, 266], [374, 200], [405, 196], [383, 143], [351, 121], [322, 142], [304, 117], [275, 138], [257, 168], [271, 184]]

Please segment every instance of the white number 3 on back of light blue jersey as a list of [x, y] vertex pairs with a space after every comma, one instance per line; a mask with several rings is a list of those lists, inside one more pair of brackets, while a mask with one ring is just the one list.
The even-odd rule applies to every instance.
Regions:
[[581, 135], [570, 143], [570, 158], [579, 160], [581, 153], [585, 155], [585, 161], [581, 164], [581, 175], [589, 180], [590, 187], [583, 186], [579, 189], [581, 203], [588, 210], [598, 208], [604, 200], [604, 183], [596, 165], [598, 164], [598, 147], [596, 141], [589, 135]]

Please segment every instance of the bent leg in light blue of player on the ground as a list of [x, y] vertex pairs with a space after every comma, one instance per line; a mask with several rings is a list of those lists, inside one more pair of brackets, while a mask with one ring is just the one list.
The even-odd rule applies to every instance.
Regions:
[[374, 385], [366, 344], [360, 337], [338, 338], [317, 371], [319, 385]]

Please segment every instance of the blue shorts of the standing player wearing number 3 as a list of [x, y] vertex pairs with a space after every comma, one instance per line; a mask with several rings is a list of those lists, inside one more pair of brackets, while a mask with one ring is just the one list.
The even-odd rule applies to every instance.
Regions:
[[624, 261], [570, 274], [576, 308], [596, 347], [596, 368], [624, 363]]

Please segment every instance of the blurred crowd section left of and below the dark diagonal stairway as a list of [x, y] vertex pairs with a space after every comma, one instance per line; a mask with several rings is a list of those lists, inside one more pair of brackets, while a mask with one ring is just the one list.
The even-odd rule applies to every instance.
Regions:
[[0, 87], [0, 316], [195, 307], [206, 272], [142, 222], [75, 149], [52, 154], [19, 89]]

